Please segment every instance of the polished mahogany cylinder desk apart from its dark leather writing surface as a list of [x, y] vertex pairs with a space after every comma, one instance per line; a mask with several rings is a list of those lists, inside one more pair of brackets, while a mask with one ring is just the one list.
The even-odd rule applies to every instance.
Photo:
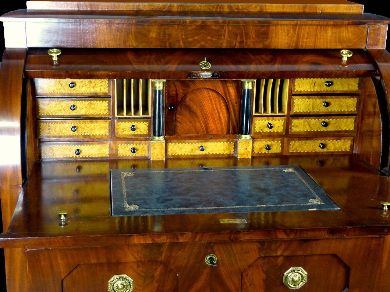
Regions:
[[[390, 19], [267, 3], [2, 16], [8, 291], [390, 291]], [[300, 165], [339, 209], [111, 214], [110, 169], [267, 165]]]

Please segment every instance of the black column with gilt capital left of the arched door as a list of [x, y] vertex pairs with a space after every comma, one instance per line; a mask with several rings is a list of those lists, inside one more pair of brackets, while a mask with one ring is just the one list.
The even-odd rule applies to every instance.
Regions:
[[153, 82], [153, 118], [152, 140], [164, 140], [164, 82], [165, 80], [152, 80]]

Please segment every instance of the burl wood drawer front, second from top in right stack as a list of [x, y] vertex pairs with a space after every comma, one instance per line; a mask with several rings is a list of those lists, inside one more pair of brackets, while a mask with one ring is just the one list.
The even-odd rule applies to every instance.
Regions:
[[291, 114], [356, 114], [357, 97], [293, 96]]

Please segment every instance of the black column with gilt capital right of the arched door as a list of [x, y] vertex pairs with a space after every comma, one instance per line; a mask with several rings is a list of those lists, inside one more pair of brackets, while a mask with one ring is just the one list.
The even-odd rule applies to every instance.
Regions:
[[239, 139], [250, 139], [250, 116], [253, 80], [242, 80], [243, 92], [241, 95]]

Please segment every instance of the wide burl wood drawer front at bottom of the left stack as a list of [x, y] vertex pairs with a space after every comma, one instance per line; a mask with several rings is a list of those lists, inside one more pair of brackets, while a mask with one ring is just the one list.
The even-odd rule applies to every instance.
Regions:
[[109, 142], [97, 142], [96, 144], [40, 144], [41, 158], [93, 158], [108, 157], [110, 154]]

